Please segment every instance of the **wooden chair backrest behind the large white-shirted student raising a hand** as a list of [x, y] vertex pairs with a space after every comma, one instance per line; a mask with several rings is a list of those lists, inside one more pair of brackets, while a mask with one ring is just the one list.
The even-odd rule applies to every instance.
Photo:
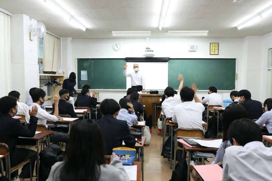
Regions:
[[177, 128], [176, 137], [203, 137], [204, 131], [198, 128]]

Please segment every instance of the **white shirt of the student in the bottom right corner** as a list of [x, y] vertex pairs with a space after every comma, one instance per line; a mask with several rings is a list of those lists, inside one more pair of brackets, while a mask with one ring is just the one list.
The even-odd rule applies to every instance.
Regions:
[[223, 181], [271, 180], [272, 149], [260, 141], [230, 146], [223, 158]]

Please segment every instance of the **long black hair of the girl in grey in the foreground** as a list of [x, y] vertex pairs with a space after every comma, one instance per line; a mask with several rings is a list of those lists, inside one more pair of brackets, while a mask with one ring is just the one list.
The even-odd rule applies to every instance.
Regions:
[[71, 129], [65, 153], [65, 162], [60, 170], [61, 181], [98, 180], [99, 165], [105, 164], [104, 140], [100, 127], [92, 119], [83, 119]]

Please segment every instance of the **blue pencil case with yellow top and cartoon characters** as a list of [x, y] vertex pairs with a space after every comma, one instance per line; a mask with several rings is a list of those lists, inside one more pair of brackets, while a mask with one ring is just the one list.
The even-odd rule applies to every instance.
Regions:
[[135, 148], [118, 147], [113, 148], [112, 152], [119, 157], [119, 160], [122, 161], [123, 165], [132, 165], [135, 160]]

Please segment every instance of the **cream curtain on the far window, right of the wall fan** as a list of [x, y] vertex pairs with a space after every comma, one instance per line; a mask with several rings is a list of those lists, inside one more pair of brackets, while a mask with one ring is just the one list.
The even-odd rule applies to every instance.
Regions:
[[43, 37], [43, 71], [56, 71], [59, 38], [46, 33]]

